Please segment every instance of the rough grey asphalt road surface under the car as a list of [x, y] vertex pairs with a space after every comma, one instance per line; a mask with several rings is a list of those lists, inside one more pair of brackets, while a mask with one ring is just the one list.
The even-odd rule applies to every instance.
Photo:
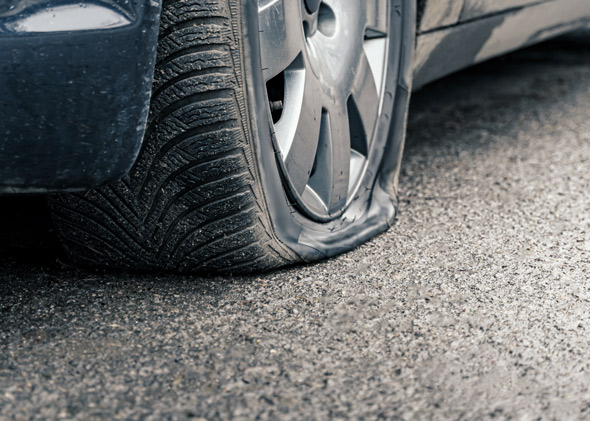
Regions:
[[396, 225], [254, 277], [82, 271], [3, 199], [0, 419], [590, 417], [590, 32], [412, 101]]

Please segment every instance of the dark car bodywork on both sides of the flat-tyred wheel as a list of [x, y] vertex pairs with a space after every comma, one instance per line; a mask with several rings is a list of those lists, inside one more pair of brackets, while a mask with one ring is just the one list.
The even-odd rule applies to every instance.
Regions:
[[[0, 193], [85, 189], [131, 168], [146, 131], [160, 8], [0, 5]], [[414, 88], [589, 22], [588, 0], [418, 0]]]

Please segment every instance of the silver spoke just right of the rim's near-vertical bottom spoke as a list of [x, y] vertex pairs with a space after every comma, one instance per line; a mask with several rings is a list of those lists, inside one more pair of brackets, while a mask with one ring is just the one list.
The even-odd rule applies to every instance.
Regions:
[[[358, 112], [359, 120], [362, 124], [362, 133], [364, 134], [364, 146], [355, 144], [353, 142], [352, 147], [359, 152], [368, 150], [368, 142], [372, 138], [375, 123], [379, 114], [379, 93], [375, 85], [375, 79], [371, 66], [366, 54], [362, 54], [358, 72], [356, 74], [352, 100], [356, 105], [356, 111]], [[355, 121], [351, 124], [354, 124]], [[355, 139], [356, 141], [356, 139]]]

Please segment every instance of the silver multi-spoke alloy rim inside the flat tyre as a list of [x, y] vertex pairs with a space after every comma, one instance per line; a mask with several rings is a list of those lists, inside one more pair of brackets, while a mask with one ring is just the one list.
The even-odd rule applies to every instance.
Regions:
[[381, 112], [387, 0], [259, 0], [263, 77], [289, 196], [331, 220], [367, 173]]

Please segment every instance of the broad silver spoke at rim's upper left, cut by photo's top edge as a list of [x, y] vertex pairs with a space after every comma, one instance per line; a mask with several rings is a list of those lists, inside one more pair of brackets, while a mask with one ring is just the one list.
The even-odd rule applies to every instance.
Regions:
[[285, 70], [304, 47], [301, 2], [271, 0], [258, 9], [262, 69], [266, 81]]

